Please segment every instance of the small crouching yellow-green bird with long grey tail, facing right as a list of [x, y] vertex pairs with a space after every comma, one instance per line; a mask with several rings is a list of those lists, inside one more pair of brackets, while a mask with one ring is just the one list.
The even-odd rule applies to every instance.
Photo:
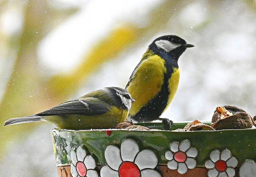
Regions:
[[71, 130], [114, 128], [127, 119], [134, 101], [123, 88], [106, 87], [35, 115], [9, 119], [4, 126], [48, 121]]

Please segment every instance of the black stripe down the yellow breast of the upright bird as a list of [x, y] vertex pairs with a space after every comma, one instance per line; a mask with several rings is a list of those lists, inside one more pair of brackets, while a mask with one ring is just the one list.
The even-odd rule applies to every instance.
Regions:
[[177, 61], [174, 61], [173, 59], [170, 61], [170, 58], [168, 60], [165, 60], [164, 63], [167, 73], [164, 74], [164, 84], [162, 85], [161, 91], [132, 117], [133, 120], [137, 122], [153, 121], [158, 119], [164, 112], [170, 95], [168, 81], [172, 76], [173, 67], [178, 68]]

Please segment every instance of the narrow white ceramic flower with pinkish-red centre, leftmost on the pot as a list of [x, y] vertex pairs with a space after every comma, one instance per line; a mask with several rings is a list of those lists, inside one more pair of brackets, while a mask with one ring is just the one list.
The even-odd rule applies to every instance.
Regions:
[[83, 146], [70, 151], [72, 177], [99, 177], [94, 170], [96, 162], [92, 155], [88, 155]]

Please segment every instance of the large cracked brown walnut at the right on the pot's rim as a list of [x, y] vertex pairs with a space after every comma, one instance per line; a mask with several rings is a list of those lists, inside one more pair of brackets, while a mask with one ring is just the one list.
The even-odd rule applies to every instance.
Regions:
[[244, 110], [235, 106], [219, 106], [212, 116], [215, 130], [252, 128], [254, 121]]

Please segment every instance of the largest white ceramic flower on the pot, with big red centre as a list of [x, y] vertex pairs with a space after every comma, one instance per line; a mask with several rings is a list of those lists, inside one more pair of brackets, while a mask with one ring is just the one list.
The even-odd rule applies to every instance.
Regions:
[[139, 145], [132, 139], [126, 139], [121, 148], [109, 145], [105, 150], [108, 165], [100, 170], [101, 177], [161, 177], [154, 170], [158, 160], [152, 150], [139, 150]]

